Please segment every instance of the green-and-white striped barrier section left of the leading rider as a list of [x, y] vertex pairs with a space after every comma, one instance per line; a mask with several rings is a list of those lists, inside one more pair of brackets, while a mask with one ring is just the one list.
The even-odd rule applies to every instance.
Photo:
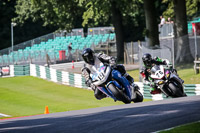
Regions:
[[70, 85], [78, 88], [89, 89], [85, 85], [85, 79], [81, 74], [60, 71], [53, 68], [30, 64], [30, 65], [10, 65], [10, 76], [39, 77], [56, 83]]

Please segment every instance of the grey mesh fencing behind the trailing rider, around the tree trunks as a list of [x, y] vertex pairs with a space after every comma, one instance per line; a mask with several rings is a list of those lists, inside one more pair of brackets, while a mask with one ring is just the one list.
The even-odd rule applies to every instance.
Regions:
[[[168, 59], [173, 67], [187, 64], [186, 57], [190, 55], [191, 60], [199, 59], [200, 35], [190, 33], [189, 35], [175, 38], [173, 35], [173, 24], [163, 25], [159, 30], [160, 46], [158, 49], [148, 48], [147, 42], [125, 43], [125, 63], [139, 64], [141, 68], [143, 66], [142, 55], [145, 53], [150, 53], [152, 57], [158, 56]], [[181, 64], [178, 63], [180, 60]]]

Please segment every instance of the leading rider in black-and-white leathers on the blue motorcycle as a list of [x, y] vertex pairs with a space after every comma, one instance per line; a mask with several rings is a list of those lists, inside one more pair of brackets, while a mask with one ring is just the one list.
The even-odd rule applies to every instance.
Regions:
[[[94, 91], [94, 96], [96, 97], [96, 99], [100, 100], [106, 97], [106, 95], [102, 93], [99, 89], [97, 89], [97, 87], [92, 83], [92, 78], [90, 77], [90, 74], [95, 72], [96, 68], [100, 66], [100, 63], [110, 64], [110, 66], [114, 69], [117, 69], [129, 81], [131, 85], [134, 85], [134, 79], [128, 73], [126, 73], [123, 65], [116, 64], [116, 60], [114, 57], [102, 53], [97, 54], [94, 53], [94, 51], [90, 48], [86, 48], [82, 52], [82, 58], [86, 63], [82, 68], [82, 75], [85, 77], [86, 85], [88, 87], [91, 87]], [[134, 87], [136, 87], [136, 85], [134, 85]]]

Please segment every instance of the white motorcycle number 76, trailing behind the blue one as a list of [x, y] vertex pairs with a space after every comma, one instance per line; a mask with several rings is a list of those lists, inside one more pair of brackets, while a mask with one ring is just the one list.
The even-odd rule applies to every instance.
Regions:
[[164, 68], [163, 65], [154, 65], [150, 70], [157, 89], [160, 89], [167, 97], [184, 97], [184, 86], [175, 71]]

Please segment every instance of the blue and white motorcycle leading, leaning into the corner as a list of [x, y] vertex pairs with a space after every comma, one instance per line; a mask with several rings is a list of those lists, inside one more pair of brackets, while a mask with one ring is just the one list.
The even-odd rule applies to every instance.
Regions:
[[[142, 102], [143, 95], [139, 91], [139, 87], [132, 87], [128, 80], [121, 75], [118, 70], [113, 69], [109, 65], [100, 65], [96, 72], [91, 74], [92, 82], [97, 88], [114, 101], [122, 101], [125, 104], [133, 102]], [[134, 89], [134, 99], [131, 100], [132, 89]]]

